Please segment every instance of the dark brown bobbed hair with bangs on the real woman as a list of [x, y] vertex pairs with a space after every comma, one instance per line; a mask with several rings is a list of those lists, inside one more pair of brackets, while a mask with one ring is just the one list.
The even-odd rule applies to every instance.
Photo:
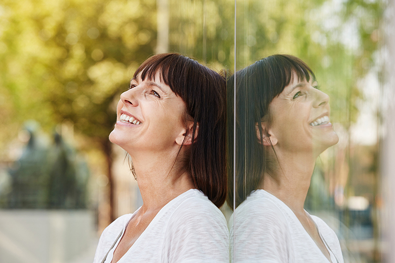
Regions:
[[194, 122], [187, 165], [195, 187], [220, 207], [227, 192], [225, 77], [196, 60], [165, 53], [147, 59], [133, 78], [140, 74], [142, 80], [152, 80], [157, 72], [160, 80], [185, 102], [186, 118]]

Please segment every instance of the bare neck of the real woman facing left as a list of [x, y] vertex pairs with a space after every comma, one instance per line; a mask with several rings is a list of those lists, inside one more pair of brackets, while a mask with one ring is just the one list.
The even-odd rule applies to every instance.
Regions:
[[146, 153], [132, 157], [143, 212], [158, 210], [183, 192], [195, 188], [185, 164], [180, 161], [181, 154], [173, 165], [175, 156]]

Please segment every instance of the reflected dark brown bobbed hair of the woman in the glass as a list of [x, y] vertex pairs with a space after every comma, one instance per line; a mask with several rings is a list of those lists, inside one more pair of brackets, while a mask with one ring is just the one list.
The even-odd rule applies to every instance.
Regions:
[[[292, 81], [293, 73], [299, 80], [314, 80], [313, 71], [302, 60], [291, 55], [272, 55], [236, 73], [236, 111], [234, 112], [235, 75], [228, 80], [228, 198], [227, 203], [233, 207], [234, 194], [236, 207], [258, 187], [265, 174], [271, 174], [274, 167], [272, 152], [259, 143], [268, 135], [262, 130], [261, 121], [269, 129], [273, 118], [269, 105]], [[236, 145], [233, 145], [234, 114], [236, 114]], [[257, 130], [261, 140], [258, 140]], [[233, 156], [236, 148], [236, 192], [233, 193]], [[276, 152], [272, 146], [274, 156]]]

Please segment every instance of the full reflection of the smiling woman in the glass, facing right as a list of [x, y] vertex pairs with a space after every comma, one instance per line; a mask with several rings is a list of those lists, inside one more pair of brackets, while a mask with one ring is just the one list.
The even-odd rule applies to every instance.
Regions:
[[[257, 61], [237, 72], [236, 81], [238, 207], [229, 224], [231, 257], [342, 263], [336, 234], [304, 210], [316, 158], [338, 142], [328, 95], [318, 89], [312, 70], [290, 55]], [[233, 138], [233, 131], [229, 135]], [[231, 207], [233, 197], [230, 192]]]

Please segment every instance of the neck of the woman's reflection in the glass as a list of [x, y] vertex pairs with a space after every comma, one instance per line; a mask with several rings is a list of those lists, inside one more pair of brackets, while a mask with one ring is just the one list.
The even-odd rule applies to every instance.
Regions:
[[260, 188], [283, 201], [295, 214], [304, 214], [304, 203], [315, 166], [312, 154], [282, 154], [276, 151], [279, 166], [266, 174]]

